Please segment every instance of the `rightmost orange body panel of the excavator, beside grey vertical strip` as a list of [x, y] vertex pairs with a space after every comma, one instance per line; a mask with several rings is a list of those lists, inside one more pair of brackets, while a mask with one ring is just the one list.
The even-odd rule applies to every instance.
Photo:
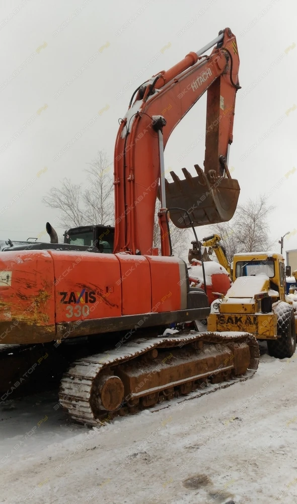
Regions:
[[184, 261], [176, 257], [145, 257], [151, 267], [152, 311], [186, 309], [188, 282]]

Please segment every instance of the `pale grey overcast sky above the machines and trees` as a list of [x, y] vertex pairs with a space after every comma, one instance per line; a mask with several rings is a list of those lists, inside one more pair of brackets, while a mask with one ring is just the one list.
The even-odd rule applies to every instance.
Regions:
[[[296, 24], [294, 0], [2, 0], [0, 239], [53, 223], [42, 197], [63, 177], [84, 183], [98, 150], [112, 162], [134, 89], [228, 26], [241, 60], [229, 159], [239, 201], [268, 194], [272, 239], [290, 231], [284, 249], [297, 248]], [[203, 165], [204, 98], [173, 132], [166, 169]]]

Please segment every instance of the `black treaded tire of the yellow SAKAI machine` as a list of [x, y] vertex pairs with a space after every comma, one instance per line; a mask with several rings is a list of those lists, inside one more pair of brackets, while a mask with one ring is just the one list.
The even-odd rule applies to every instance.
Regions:
[[291, 357], [296, 349], [295, 317], [292, 307], [285, 302], [276, 306], [277, 340], [267, 340], [268, 353], [277, 359]]

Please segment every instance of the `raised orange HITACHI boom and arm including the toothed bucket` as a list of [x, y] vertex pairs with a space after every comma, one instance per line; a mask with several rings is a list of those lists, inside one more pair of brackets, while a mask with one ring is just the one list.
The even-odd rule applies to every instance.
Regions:
[[[205, 56], [204, 52], [213, 45], [211, 54]], [[200, 51], [190, 52], [133, 94], [115, 144], [115, 253], [122, 250], [152, 254], [160, 178], [163, 214], [166, 208], [172, 209], [170, 218], [176, 226], [198, 226], [232, 218], [240, 188], [238, 181], [230, 177], [227, 162], [233, 140], [238, 69], [236, 38], [226, 28]], [[192, 177], [183, 168], [185, 179], [180, 180], [171, 172], [173, 182], [168, 183], [164, 180], [164, 148], [176, 125], [205, 91], [204, 171], [195, 165], [197, 176]], [[169, 255], [168, 248], [162, 254]]]

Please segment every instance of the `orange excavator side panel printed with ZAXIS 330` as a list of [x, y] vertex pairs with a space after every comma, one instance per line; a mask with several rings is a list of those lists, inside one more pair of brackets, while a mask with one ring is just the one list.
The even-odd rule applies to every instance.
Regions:
[[50, 254], [55, 272], [56, 323], [121, 315], [116, 256], [54, 250]]

